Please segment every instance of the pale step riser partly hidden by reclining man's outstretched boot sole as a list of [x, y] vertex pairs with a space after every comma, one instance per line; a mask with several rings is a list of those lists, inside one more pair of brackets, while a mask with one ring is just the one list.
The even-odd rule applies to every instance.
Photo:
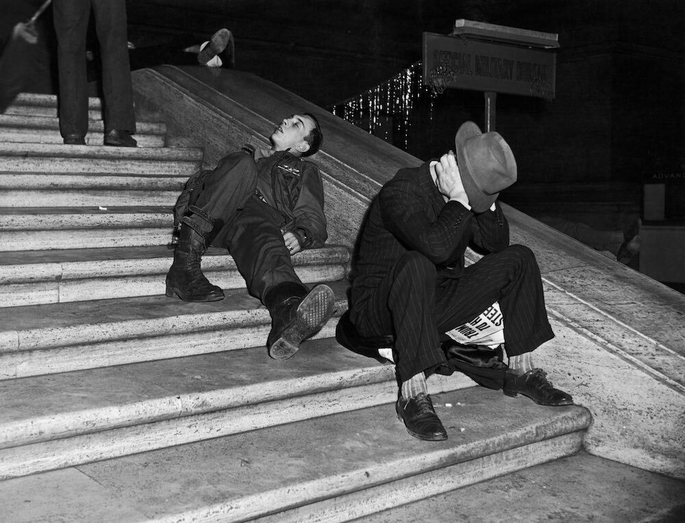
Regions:
[[[0, 356], [0, 380], [57, 374], [73, 370], [127, 365], [143, 361], [220, 353], [266, 345], [269, 318], [256, 327], [179, 333], [153, 338], [123, 340], [93, 345], [28, 350]], [[332, 318], [312, 340], [334, 337], [338, 318]], [[228, 326], [229, 327], [229, 326]]]

